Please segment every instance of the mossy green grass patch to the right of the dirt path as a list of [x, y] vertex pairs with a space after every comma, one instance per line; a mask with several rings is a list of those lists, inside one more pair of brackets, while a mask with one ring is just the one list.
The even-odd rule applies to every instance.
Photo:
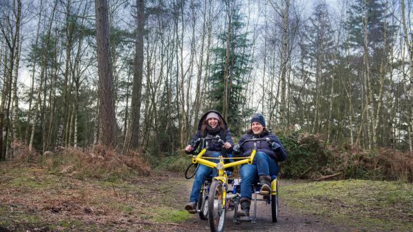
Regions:
[[413, 231], [413, 184], [369, 180], [296, 183], [280, 197], [293, 209], [368, 231]]

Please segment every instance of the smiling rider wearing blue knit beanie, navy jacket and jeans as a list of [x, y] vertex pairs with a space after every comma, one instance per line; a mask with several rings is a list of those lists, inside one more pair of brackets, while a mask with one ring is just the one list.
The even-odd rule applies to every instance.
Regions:
[[237, 145], [234, 146], [234, 154], [241, 157], [247, 157], [255, 148], [254, 142], [246, 142], [244, 146], [239, 147], [248, 139], [269, 139], [266, 141], [257, 141], [257, 153], [255, 154], [253, 164], [243, 164], [239, 169], [241, 174], [241, 211], [238, 211], [237, 217], [249, 217], [250, 202], [253, 195], [253, 183], [259, 180], [261, 184], [261, 194], [270, 193], [271, 177], [278, 175], [279, 169], [277, 162], [286, 160], [287, 153], [279, 141], [278, 137], [268, 131], [264, 116], [260, 113], [253, 115], [250, 120], [251, 128], [247, 131]]

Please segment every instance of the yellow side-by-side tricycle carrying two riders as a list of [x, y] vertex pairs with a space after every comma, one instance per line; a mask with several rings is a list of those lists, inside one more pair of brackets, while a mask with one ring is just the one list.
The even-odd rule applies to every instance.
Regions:
[[[224, 157], [225, 155], [220, 155], [219, 157], [205, 157], [203, 156], [210, 142], [219, 142], [224, 144], [223, 140], [217, 136], [207, 136], [203, 139], [198, 139], [194, 144], [194, 147], [201, 144], [202, 150], [199, 153], [193, 153], [192, 163], [193, 164], [203, 164], [211, 168], [217, 168], [218, 173], [215, 177], [207, 178], [201, 188], [200, 200], [198, 202], [198, 213], [199, 218], [202, 220], [207, 220], [210, 225], [211, 231], [221, 232], [223, 231], [225, 224], [225, 217], [227, 211], [234, 211], [233, 222], [253, 222], [257, 220], [257, 201], [265, 201], [271, 206], [271, 215], [273, 222], [277, 222], [278, 217], [278, 184], [277, 177], [272, 177], [271, 182], [271, 192], [268, 196], [264, 198], [257, 198], [259, 194], [260, 185], [257, 182], [254, 185], [254, 210], [252, 217], [237, 218], [238, 204], [240, 200], [240, 187], [242, 180], [239, 178], [233, 178], [230, 171], [226, 171], [233, 166], [238, 166], [241, 164], [253, 164], [255, 153], [257, 153], [256, 142], [266, 141], [268, 139], [248, 139], [241, 144], [241, 147], [246, 142], [254, 142], [254, 149], [248, 157]], [[195, 149], [194, 149], [195, 150]], [[210, 160], [219, 160], [215, 163]], [[237, 161], [233, 161], [237, 160]], [[187, 170], [188, 171], [188, 170]], [[187, 176], [187, 173], [185, 173]]]

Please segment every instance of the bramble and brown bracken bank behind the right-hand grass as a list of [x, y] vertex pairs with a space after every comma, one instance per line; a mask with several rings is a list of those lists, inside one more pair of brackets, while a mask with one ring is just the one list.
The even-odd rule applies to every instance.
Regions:
[[316, 180], [334, 175], [336, 180], [398, 180], [413, 182], [413, 156], [387, 148], [366, 151], [348, 144], [327, 144], [319, 135], [276, 131], [288, 153], [282, 176]]

